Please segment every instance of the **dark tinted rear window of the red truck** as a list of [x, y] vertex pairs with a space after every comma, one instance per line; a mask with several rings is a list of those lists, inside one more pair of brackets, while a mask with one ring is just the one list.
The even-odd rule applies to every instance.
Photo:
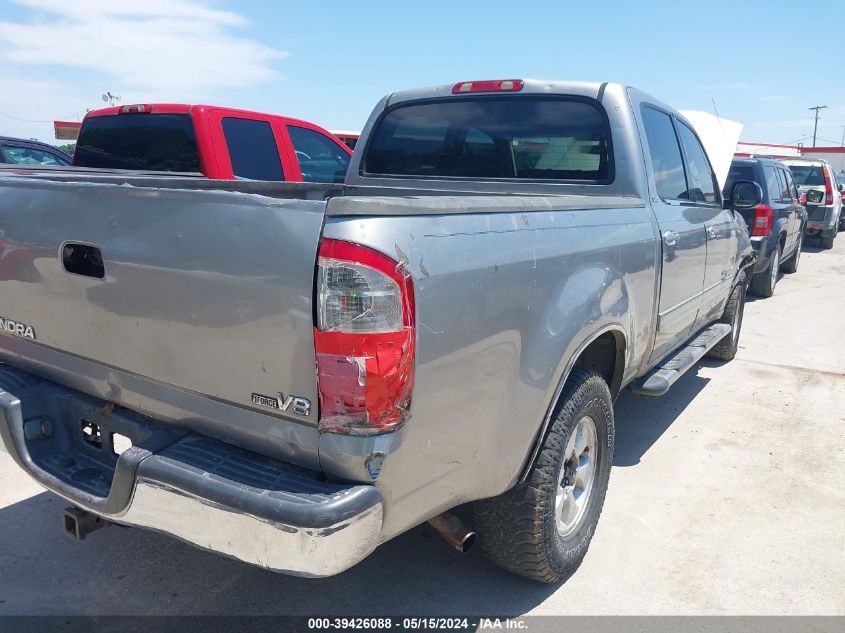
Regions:
[[187, 114], [118, 114], [86, 119], [73, 164], [105, 169], [200, 171], [194, 125]]

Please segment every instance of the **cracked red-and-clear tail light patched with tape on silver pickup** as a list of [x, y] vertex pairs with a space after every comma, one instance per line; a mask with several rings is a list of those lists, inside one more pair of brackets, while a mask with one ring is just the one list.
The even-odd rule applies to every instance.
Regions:
[[314, 347], [322, 432], [376, 435], [405, 422], [414, 382], [414, 286], [365, 246], [323, 239]]

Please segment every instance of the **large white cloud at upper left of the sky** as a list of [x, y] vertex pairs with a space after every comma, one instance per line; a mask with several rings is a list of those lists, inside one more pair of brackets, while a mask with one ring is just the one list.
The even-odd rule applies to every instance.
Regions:
[[[139, 100], [195, 101], [279, 77], [286, 53], [232, 32], [246, 19], [182, 0], [14, 0], [37, 19], [0, 22], [7, 68], [67, 66]], [[97, 91], [102, 92], [102, 87]]]

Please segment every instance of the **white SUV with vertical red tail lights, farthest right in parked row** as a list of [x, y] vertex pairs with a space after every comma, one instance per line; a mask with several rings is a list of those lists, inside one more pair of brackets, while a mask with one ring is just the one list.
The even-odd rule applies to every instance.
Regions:
[[845, 185], [837, 184], [830, 164], [820, 158], [783, 161], [795, 177], [800, 193], [807, 194], [807, 234], [818, 235], [824, 249], [833, 248], [842, 216]]

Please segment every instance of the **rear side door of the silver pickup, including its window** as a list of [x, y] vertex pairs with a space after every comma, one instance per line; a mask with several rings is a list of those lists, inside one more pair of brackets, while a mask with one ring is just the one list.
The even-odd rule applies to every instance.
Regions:
[[712, 213], [691, 199], [672, 117], [650, 105], [641, 108], [641, 116], [663, 259], [653, 364], [689, 337], [698, 316], [707, 262], [704, 225]]

